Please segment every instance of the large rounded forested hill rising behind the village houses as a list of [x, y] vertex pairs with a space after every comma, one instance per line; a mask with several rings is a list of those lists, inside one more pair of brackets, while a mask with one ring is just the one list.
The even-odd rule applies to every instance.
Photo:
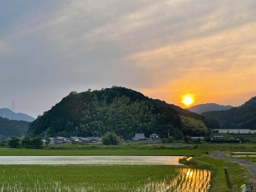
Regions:
[[168, 131], [182, 137], [180, 116], [202, 120], [202, 116], [154, 100], [124, 87], [87, 92], [71, 92], [51, 110], [30, 123], [28, 135], [101, 136], [113, 130], [117, 135], [132, 138], [135, 132], [149, 136], [156, 132], [167, 137]]

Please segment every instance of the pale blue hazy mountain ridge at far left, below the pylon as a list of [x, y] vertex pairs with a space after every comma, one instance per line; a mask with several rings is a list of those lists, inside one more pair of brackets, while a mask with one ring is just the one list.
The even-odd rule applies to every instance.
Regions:
[[10, 110], [8, 108], [0, 109], [0, 116], [3, 118], [7, 118], [10, 120], [17, 120], [17, 121], [22, 120], [22, 121], [32, 122], [35, 120], [34, 117], [31, 117], [24, 113], [14, 113], [12, 110]]

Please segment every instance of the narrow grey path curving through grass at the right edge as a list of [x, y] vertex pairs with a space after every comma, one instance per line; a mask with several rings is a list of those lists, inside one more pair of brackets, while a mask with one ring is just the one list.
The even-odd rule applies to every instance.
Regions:
[[213, 158], [224, 160], [224, 161], [231, 161], [231, 162], [236, 161], [240, 165], [248, 168], [250, 170], [250, 172], [252, 172], [253, 186], [256, 186], [256, 163], [253, 163], [250, 161], [245, 161], [242, 159], [233, 159], [233, 158], [229, 158], [229, 157], [224, 157], [223, 154], [224, 154], [223, 151], [218, 151], [216, 153], [213, 153], [210, 156]]

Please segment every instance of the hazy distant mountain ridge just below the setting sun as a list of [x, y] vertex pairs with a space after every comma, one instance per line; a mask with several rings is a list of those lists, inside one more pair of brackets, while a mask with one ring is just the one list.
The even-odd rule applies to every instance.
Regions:
[[233, 108], [231, 105], [219, 105], [216, 103], [205, 103], [205, 104], [199, 104], [194, 105], [188, 108], [189, 111], [195, 112], [197, 114], [201, 114], [206, 111], [222, 111], [222, 110], [228, 110]]

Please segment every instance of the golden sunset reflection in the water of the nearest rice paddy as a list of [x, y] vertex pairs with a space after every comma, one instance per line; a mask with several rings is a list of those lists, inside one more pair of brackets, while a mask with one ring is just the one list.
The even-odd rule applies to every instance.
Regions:
[[164, 180], [151, 181], [137, 191], [155, 192], [205, 192], [210, 187], [211, 172], [200, 169], [177, 169]]

